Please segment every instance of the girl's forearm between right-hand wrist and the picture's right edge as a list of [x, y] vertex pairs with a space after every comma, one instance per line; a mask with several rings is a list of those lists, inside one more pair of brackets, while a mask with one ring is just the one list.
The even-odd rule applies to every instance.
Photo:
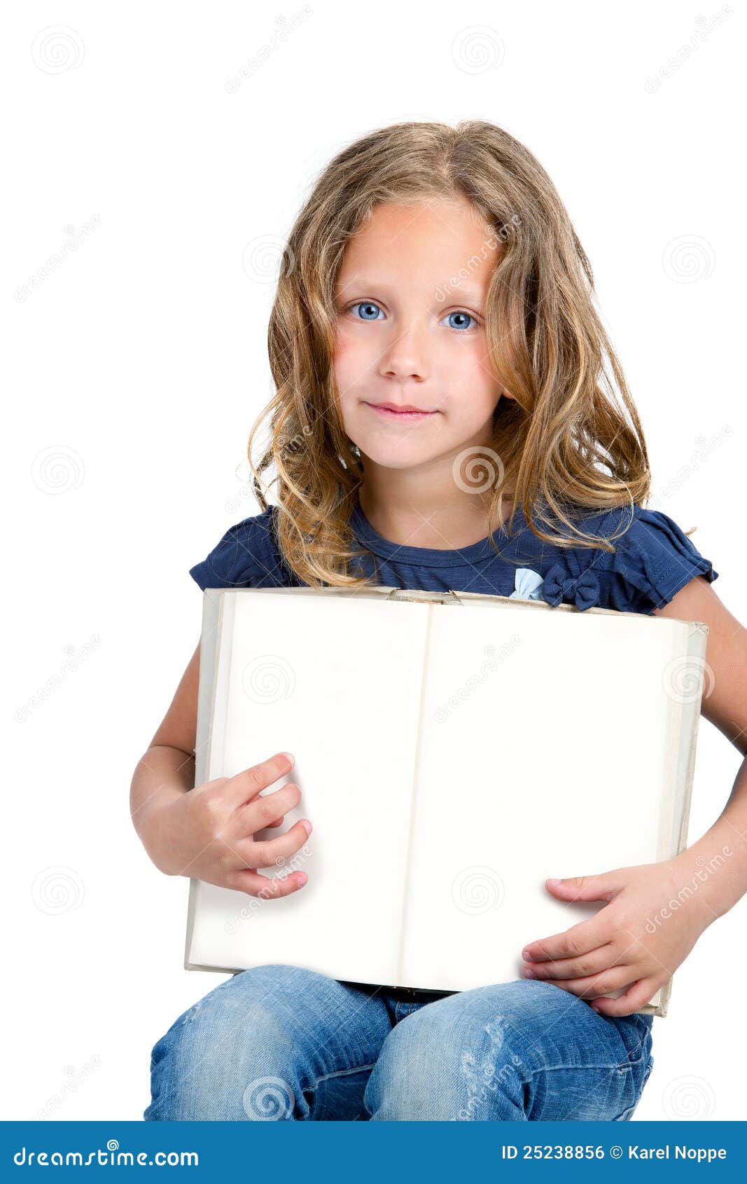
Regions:
[[747, 893], [747, 757], [716, 822], [674, 862], [682, 893], [697, 899], [708, 922]]

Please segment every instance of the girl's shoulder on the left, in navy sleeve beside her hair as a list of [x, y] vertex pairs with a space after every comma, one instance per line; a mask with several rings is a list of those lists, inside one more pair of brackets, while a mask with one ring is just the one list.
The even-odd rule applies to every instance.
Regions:
[[273, 506], [228, 527], [220, 541], [189, 575], [202, 588], [285, 587], [290, 575], [282, 562]]

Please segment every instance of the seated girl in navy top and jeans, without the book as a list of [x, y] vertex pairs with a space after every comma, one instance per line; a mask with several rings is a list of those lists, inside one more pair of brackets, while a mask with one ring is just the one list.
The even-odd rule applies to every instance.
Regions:
[[[376, 583], [703, 620], [703, 714], [745, 754], [745, 631], [711, 562], [643, 507], [640, 423], [586, 255], [534, 156], [479, 121], [374, 131], [323, 172], [283, 262], [258, 466], [265, 412], [249, 442], [263, 511], [191, 570], [198, 585]], [[135, 826], [162, 871], [271, 908], [307, 879], [255, 870], [311, 829], [253, 839], [300, 800], [294, 784], [258, 796], [292, 757], [193, 789], [198, 661], [199, 646], [135, 772]], [[528, 933], [515, 982], [446, 993], [288, 965], [234, 974], [156, 1043], [146, 1119], [630, 1119], [653, 1063], [639, 1009], [747, 890], [745, 780], [742, 765], [720, 818], [677, 858], [546, 881], [560, 900], [607, 905], [567, 932]], [[717, 852], [719, 870], [685, 893]]]

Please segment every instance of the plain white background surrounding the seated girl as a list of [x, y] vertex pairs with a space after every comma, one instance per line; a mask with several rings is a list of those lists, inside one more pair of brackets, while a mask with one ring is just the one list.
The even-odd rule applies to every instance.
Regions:
[[[715, 4], [64, 0], [6, 13], [0, 54], [2, 1117], [139, 1119], [150, 1048], [223, 977], [181, 969], [187, 881], [142, 850], [129, 784], [199, 638], [188, 567], [258, 513], [244, 457], [271, 393], [277, 244], [329, 157], [375, 127], [478, 117], [522, 140], [592, 260], [649, 508], [697, 526], [747, 622], [745, 24]], [[702, 721], [691, 838], [739, 764]], [[677, 971], [635, 1120], [746, 1117], [746, 909]]]

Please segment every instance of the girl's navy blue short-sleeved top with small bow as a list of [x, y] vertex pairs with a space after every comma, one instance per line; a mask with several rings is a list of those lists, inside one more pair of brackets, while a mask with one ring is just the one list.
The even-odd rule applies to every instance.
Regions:
[[[277, 543], [276, 509], [230, 527], [206, 559], [189, 568], [201, 588], [305, 587], [286, 567]], [[514, 530], [504, 523], [469, 547], [404, 547], [384, 539], [360, 503], [350, 516], [358, 543], [366, 548], [360, 572], [373, 584], [400, 588], [481, 592], [492, 596], [651, 613], [668, 604], [696, 575], [717, 579], [710, 560], [666, 514], [629, 506], [577, 521], [585, 534], [614, 539], [616, 554], [597, 547], [558, 547], [537, 539], [517, 509]], [[555, 532], [558, 533], [558, 532]], [[375, 568], [374, 568], [375, 562]]]

